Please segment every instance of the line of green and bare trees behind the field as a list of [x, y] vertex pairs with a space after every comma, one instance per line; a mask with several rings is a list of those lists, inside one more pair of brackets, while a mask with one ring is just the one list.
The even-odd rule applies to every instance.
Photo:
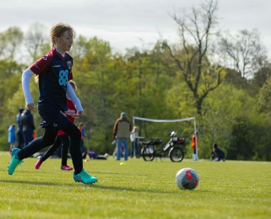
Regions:
[[[205, 1], [172, 15], [179, 41], [161, 38], [149, 49], [113, 53], [109, 42], [75, 35], [70, 54], [77, 95], [84, 108], [87, 144], [98, 153], [112, 153], [112, 130], [125, 111], [152, 119], [196, 117], [199, 158], [209, 158], [212, 143], [227, 159], [271, 161], [271, 79], [267, 50], [256, 29], [230, 35], [218, 29], [217, 1]], [[25, 106], [22, 72], [49, 51], [46, 27], [35, 23], [27, 33], [10, 27], [0, 33], [0, 150], [8, 150], [7, 129]], [[16, 60], [25, 47], [28, 61]], [[37, 104], [38, 85], [30, 90]], [[37, 133], [41, 117], [33, 113]], [[166, 141], [170, 131], [186, 138], [185, 157], [192, 156], [192, 122], [136, 121], [140, 136]]]

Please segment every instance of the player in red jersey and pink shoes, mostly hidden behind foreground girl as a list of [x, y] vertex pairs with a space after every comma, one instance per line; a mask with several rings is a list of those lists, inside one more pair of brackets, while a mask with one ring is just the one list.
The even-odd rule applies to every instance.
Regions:
[[[77, 90], [76, 83], [72, 80], [70, 80], [69, 82], [73, 90], [76, 91]], [[67, 106], [68, 106], [68, 110], [65, 111], [64, 114], [72, 121], [72, 123], [74, 123], [74, 119], [76, 118], [76, 116], [74, 116], [73, 114], [75, 114], [77, 110], [68, 95], [67, 95]], [[43, 163], [48, 157], [53, 155], [53, 153], [57, 150], [59, 145], [62, 144], [60, 169], [73, 170], [72, 167], [69, 167], [67, 165], [67, 153], [69, 149], [69, 143], [70, 143], [69, 136], [65, 132], [59, 130], [57, 133], [57, 138], [55, 139], [55, 143], [53, 143], [53, 145], [51, 145], [48, 148], [48, 150], [38, 159], [35, 165], [35, 169], [39, 169], [39, 167], [41, 166], [41, 163]]]

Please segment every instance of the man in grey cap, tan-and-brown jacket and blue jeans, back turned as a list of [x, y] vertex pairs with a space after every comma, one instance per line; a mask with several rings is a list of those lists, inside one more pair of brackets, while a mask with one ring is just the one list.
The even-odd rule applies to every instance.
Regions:
[[120, 118], [115, 122], [113, 129], [113, 138], [117, 139], [117, 157], [116, 160], [121, 159], [121, 145], [124, 147], [124, 160], [128, 160], [128, 138], [132, 131], [132, 124], [126, 118], [126, 113], [122, 112]]

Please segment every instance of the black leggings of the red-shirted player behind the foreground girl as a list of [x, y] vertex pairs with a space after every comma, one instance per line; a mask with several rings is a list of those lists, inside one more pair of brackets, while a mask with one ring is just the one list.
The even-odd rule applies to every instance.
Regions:
[[53, 145], [51, 145], [48, 150], [41, 156], [41, 162], [47, 160], [48, 157], [53, 155], [53, 153], [58, 149], [59, 145], [61, 144], [61, 165], [67, 166], [67, 153], [69, 150], [69, 143], [70, 139], [67, 134], [65, 135], [58, 135], [55, 139]]

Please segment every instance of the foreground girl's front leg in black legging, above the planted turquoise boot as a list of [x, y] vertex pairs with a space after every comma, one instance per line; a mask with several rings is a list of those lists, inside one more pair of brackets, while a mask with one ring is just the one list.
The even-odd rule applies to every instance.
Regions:
[[61, 130], [64, 131], [70, 137], [69, 149], [71, 159], [73, 161], [75, 175], [77, 175], [83, 169], [83, 157], [80, 151], [81, 131], [71, 121], [64, 125], [61, 128]]

